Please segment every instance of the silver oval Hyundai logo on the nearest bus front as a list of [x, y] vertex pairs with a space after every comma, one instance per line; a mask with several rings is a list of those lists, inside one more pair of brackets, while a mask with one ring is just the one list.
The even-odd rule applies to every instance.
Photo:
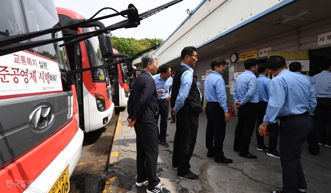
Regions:
[[30, 114], [29, 119], [33, 129], [45, 129], [51, 125], [54, 119], [54, 110], [50, 106], [41, 105]]

